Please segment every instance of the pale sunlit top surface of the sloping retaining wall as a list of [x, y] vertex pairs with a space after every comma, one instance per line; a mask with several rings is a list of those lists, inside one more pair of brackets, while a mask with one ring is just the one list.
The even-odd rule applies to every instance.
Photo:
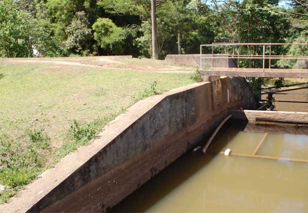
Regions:
[[13, 197], [8, 203], [1, 205], [0, 212], [11, 212], [11, 209], [16, 209], [16, 206], [18, 206], [18, 209], [14, 212], [26, 212], [83, 165], [84, 162], [98, 153], [110, 141], [116, 138], [125, 129], [129, 128], [129, 126], [136, 122], [156, 104], [160, 103], [170, 95], [181, 93], [204, 84], [210, 84], [210, 82], [194, 83], [137, 102], [130, 107], [126, 113], [116, 117], [112, 122], [110, 122], [91, 144], [79, 147], [77, 151], [65, 156], [55, 165], [55, 167], [48, 169], [39, 175], [35, 181], [27, 185], [24, 190], [19, 192], [18, 195]]

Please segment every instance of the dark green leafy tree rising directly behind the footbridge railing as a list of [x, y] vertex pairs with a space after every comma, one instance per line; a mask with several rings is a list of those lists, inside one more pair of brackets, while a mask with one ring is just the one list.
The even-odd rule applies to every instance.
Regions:
[[[237, 29], [241, 42], [246, 43], [284, 43], [289, 36], [290, 23], [287, 14], [272, 2], [247, 0], [239, 5]], [[262, 46], [246, 46], [242, 51], [249, 55], [262, 55]], [[267, 54], [269, 50], [266, 50]], [[244, 53], [245, 53], [244, 52]], [[281, 46], [273, 46], [272, 55], [283, 55], [285, 49]], [[247, 62], [247, 61], [246, 61]], [[242, 66], [262, 67], [261, 60], [249, 60]], [[275, 64], [272, 64], [275, 66]], [[268, 61], [266, 61], [268, 66]]]

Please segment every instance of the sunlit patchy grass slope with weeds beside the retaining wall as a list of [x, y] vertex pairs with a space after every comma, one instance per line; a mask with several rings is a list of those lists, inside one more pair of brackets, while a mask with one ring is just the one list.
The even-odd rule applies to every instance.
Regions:
[[195, 82], [190, 76], [2, 63], [0, 184], [7, 189], [0, 203], [80, 145], [89, 144], [129, 106]]

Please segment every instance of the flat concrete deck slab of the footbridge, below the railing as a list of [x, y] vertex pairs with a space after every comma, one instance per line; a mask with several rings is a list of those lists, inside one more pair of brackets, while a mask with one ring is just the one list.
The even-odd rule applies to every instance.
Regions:
[[263, 69], [212, 67], [201, 71], [205, 76], [308, 78], [308, 69]]

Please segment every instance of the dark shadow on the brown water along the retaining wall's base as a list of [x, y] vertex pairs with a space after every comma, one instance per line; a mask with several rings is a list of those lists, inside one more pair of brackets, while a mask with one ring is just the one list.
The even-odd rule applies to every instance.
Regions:
[[[216, 135], [213, 145], [209, 147], [209, 150], [212, 150], [211, 147], [215, 147], [215, 150], [223, 148], [226, 143], [224, 143], [224, 140], [221, 140], [221, 138], [229, 132], [230, 128], [233, 130], [233, 127], [234, 121], [227, 122], [219, 131], [218, 135]], [[228, 137], [233, 138], [236, 133], [244, 129], [244, 127], [245, 124], [240, 122], [234, 134], [231, 136], [228, 134]], [[204, 140], [202, 143], [198, 144], [198, 146], [205, 145], [206, 141], [207, 140]], [[202, 148], [199, 148], [197, 151], [188, 151], [161, 173], [150, 179], [120, 203], [111, 208], [109, 212], [144, 212], [189, 179], [202, 167], [206, 166], [217, 155], [215, 153], [217, 152], [203, 154]]]

